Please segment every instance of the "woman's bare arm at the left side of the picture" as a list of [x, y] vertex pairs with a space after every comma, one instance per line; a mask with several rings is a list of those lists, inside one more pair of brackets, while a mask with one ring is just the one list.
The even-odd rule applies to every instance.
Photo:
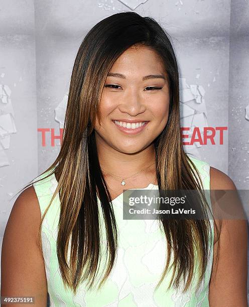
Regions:
[[[34, 296], [34, 305], [45, 307], [47, 280], [38, 247], [40, 222], [40, 207], [31, 186], [18, 196], [6, 226], [1, 259], [1, 296]], [[20, 303], [7, 305], [23, 306]]]

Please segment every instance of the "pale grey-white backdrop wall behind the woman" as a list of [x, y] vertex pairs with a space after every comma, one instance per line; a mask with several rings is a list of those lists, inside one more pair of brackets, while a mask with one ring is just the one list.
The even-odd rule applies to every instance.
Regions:
[[[186, 146], [249, 189], [248, 0], [0, 0], [0, 244], [15, 198], [58, 155], [79, 45], [103, 18], [136, 11], [170, 33], [182, 126], [227, 127], [223, 144]], [[188, 95], [192, 95], [189, 98]], [[42, 132], [46, 146], [42, 144]]]

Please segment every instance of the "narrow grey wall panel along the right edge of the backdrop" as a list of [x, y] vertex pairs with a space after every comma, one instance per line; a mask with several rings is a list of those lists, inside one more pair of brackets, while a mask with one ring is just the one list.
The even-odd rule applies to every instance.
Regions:
[[231, 2], [228, 172], [237, 189], [249, 189], [248, 16], [248, 2]]

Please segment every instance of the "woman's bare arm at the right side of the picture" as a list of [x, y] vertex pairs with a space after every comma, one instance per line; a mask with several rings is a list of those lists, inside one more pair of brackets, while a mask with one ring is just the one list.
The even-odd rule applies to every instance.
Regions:
[[[236, 190], [236, 187], [223, 172], [210, 168], [210, 190]], [[246, 220], [222, 221], [219, 257], [214, 267], [216, 256], [217, 243], [214, 244], [214, 259], [209, 283], [210, 307], [247, 307]]]

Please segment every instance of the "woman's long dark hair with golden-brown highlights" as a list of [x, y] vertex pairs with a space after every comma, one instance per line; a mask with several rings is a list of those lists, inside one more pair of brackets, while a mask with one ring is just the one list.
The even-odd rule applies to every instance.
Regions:
[[[77, 52], [69, 88], [61, 149], [55, 162], [45, 171], [51, 171], [48, 176], [56, 173], [59, 182], [42, 216], [41, 225], [48, 208], [59, 193], [61, 211], [57, 256], [64, 286], [70, 287], [74, 293], [83, 280], [87, 281], [88, 289], [93, 287], [101, 255], [97, 191], [107, 238], [106, 257], [108, 255], [106, 272], [98, 288], [110, 274], [116, 257], [117, 227], [112, 204], [109, 204], [111, 197], [97, 157], [94, 123], [96, 118], [100, 122], [99, 102], [111, 66], [124, 51], [134, 45], [147, 46], [157, 52], [169, 78], [169, 118], [164, 130], [154, 141], [159, 189], [203, 189], [198, 170], [183, 150], [179, 73], [170, 36], [153, 18], [142, 17], [135, 12], [121, 12], [101, 20], [87, 33]], [[205, 198], [201, 197], [201, 193], [196, 204], [203, 208], [204, 212], [208, 211], [208, 204]], [[199, 287], [210, 252], [210, 221], [161, 220], [160, 223], [167, 239], [167, 262], [157, 287], [169, 268], [173, 267], [169, 287], [172, 284], [175, 287], [179, 286], [183, 278], [186, 291], [190, 287], [196, 263], [199, 264]], [[214, 225], [218, 234], [215, 222]], [[170, 266], [172, 257], [173, 262]]]

